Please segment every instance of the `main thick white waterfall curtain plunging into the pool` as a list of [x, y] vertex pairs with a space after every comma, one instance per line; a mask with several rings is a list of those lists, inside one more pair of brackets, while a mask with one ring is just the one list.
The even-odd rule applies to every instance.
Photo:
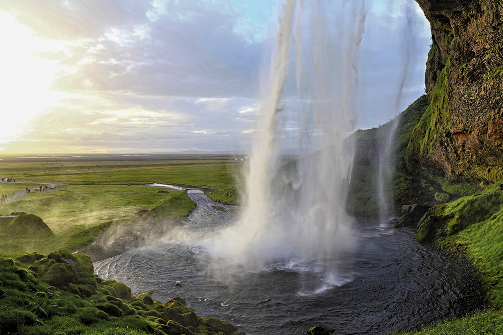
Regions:
[[[327, 260], [337, 259], [353, 241], [353, 219], [344, 209], [353, 151], [345, 138], [356, 123], [364, 2], [289, 0], [283, 10], [248, 161], [245, 207], [213, 252], [247, 266], [278, 259], [320, 266], [328, 281], [336, 280]], [[285, 98], [294, 52], [298, 95]], [[284, 119], [296, 106], [302, 111], [295, 134], [300, 158], [285, 163]]]

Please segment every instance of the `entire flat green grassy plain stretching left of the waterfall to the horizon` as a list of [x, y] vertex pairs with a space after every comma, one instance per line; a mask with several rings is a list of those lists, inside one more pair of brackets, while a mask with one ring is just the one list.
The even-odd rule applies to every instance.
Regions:
[[[16, 201], [0, 203], [0, 213], [35, 214], [53, 235], [16, 236], [0, 227], [0, 252], [76, 250], [93, 241], [113, 222], [123, 224], [140, 217], [175, 219], [195, 207], [185, 191], [134, 186], [149, 183], [218, 187], [234, 182], [242, 163], [233, 160], [169, 160], [110, 162], [2, 162], [0, 193], [9, 196], [26, 187], [58, 184], [58, 192], [30, 192]], [[61, 186], [59, 186], [61, 184]]]

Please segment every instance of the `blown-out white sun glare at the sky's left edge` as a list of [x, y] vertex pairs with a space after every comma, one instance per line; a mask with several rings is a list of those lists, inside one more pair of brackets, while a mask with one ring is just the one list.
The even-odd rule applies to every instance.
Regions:
[[28, 27], [0, 11], [0, 150], [23, 133], [29, 120], [56, 105], [66, 94], [51, 89], [63, 67], [43, 52], [64, 51], [64, 44], [37, 37]]

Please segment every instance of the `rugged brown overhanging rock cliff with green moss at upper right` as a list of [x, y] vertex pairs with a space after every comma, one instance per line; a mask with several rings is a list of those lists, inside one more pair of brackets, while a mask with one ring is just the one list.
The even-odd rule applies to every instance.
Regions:
[[453, 182], [503, 179], [503, 5], [416, 1], [432, 29], [431, 104], [413, 131], [409, 161]]

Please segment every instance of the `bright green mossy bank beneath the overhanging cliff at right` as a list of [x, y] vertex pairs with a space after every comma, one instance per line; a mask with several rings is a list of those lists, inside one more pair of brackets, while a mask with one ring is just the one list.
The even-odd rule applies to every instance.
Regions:
[[470, 259], [487, 290], [491, 306], [503, 307], [503, 185], [433, 207], [416, 239]]

